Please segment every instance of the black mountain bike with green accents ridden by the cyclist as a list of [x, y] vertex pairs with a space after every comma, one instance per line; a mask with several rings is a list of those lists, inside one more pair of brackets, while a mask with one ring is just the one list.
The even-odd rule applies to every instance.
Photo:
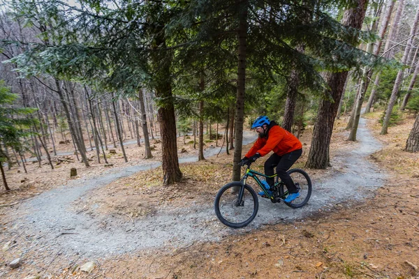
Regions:
[[[288, 190], [277, 174], [267, 176], [260, 172], [251, 169], [251, 162], [247, 162], [242, 166], [246, 166], [246, 172], [240, 181], [233, 181], [223, 186], [216, 194], [214, 208], [216, 216], [221, 223], [228, 227], [239, 228], [246, 227], [256, 217], [259, 209], [258, 195], [256, 191], [246, 183], [247, 178], [251, 177], [262, 188], [266, 197], [272, 203], [284, 202], [288, 195]], [[293, 202], [284, 202], [287, 206], [293, 209], [298, 209], [310, 199], [311, 196], [311, 179], [307, 172], [302, 169], [289, 169], [291, 179], [297, 186], [300, 197], [293, 200]], [[260, 180], [261, 177], [274, 178], [274, 186], [271, 186], [269, 191], [265, 189]]]

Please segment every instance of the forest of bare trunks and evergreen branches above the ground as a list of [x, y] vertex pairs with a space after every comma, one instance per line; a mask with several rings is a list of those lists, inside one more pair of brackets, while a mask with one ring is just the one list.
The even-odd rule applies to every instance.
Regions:
[[[415, 1], [5, 1], [1, 7], [0, 164], [52, 158], [71, 144], [105, 150], [130, 137], [162, 144], [163, 182], [182, 178], [177, 136], [204, 159], [204, 126], [234, 149], [260, 114], [299, 135], [314, 125], [306, 167], [325, 168], [335, 118], [385, 109], [381, 134], [407, 111], [404, 149], [419, 150]], [[365, 101], [364, 101], [365, 100]], [[209, 129], [211, 130], [211, 129]], [[208, 132], [208, 128], [207, 131]], [[129, 135], [129, 136], [128, 136]], [[6, 168], [6, 169], [5, 169]]]

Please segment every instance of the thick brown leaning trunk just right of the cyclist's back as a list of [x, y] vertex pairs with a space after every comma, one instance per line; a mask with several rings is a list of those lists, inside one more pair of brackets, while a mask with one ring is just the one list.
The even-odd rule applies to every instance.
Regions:
[[[347, 27], [360, 29], [365, 17], [367, 0], [358, 0], [356, 8], [350, 8], [344, 13], [342, 24]], [[358, 45], [358, 38], [353, 38], [352, 45]], [[330, 166], [330, 138], [332, 137], [333, 125], [339, 107], [339, 100], [343, 93], [348, 72], [326, 73], [325, 81], [328, 83], [330, 91], [325, 94], [330, 99], [321, 100], [318, 107], [318, 117], [314, 125], [313, 136], [311, 137], [311, 148], [306, 167], [315, 169], [325, 169]]]

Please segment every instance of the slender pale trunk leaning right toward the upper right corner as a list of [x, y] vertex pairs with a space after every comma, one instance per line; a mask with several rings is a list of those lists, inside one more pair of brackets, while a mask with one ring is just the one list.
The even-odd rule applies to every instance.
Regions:
[[[404, 53], [402, 57], [403, 64], [406, 64], [407, 58], [409, 57], [409, 53], [411, 51], [411, 47], [413, 46], [413, 40], [416, 34], [416, 29], [418, 29], [418, 22], [419, 22], [419, 9], [416, 11], [415, 21], [413, 22], [413, 25], [411, 28], [409, 40], [407, 40], [407, 45], [404, 48]], [[403, 73], [404, 73], [404, 70], [399, 70], [399, 72], [397, 73], [395, 85], [393, 86], [390, 100], [388, 102], [388, 107], [387, 107], [387, 110], [385, 110], [385, 116], [383, 119], [383, 127], [381, 128], [381, 133], [380, 133], [381, 135], [385, 135], [388, 133], [387, 130], [390, 124], [390, 116], [392, 114], [392, 109], [396, 102], [397, 93], [399, 93], [400, 84], [402, 83], [402, 80], [403, 80]]]

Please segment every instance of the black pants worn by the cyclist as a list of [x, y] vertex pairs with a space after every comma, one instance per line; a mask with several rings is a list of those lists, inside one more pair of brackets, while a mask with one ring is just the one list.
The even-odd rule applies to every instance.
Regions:
[[[291, 176], [289, 176], [286, 171], [290, 169], [298, 158], [300, 158], [301, 154], [302, 149], [291, 151], [283, 156], [273, 153], [265, 162], [265, 174], [273, 175], [274, 168], [277, 167], [277, 174], [281, 181], [285, 183], [286, 188], [288, 188], [288, 193], [297, 193], [297, 188], [293, 183], [293, 179], [291, 179]], [[274, 179], [267, 178], [266, 181], [270, 186], [274, 185]]]

